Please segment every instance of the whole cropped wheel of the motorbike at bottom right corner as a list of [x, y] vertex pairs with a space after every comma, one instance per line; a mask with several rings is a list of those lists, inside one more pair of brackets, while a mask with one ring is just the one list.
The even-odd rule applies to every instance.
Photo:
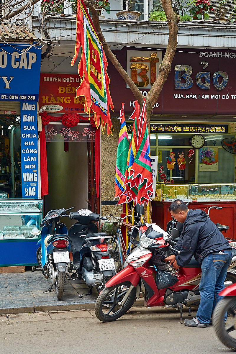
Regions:
[[[226, 347], [234, 350], [234, 352], [236, 351], [235, 306], [235, 296], [226, 296], [218, 302], [212, 316], [213, 327], [217, 337]], [[230, 326], [225, 326], [224, 324], [224, 316], [226, 311], [228, 314], [231, 313], [233, 315], [233, 323]]]

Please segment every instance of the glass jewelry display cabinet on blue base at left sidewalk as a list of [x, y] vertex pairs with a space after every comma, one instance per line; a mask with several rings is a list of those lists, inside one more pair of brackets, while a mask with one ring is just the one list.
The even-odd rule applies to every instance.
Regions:
[[37, 264], [41, 222], [41, 199], [0, 199], [0, 266]]

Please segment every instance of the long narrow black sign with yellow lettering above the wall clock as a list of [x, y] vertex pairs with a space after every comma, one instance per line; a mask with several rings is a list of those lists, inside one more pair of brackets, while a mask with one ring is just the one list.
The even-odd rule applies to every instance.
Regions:
[[[126, 123], [128, 133], [132, 132], [133, 123]], [[150, 123], [151, 133], [200, 133], [228, 134], [228, 124], [161, 124]]]

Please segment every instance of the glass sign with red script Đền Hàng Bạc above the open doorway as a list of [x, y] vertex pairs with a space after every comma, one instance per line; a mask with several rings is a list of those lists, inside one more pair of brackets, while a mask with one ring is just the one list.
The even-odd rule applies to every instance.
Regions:
[[94, 141], [96, 128], [90, 124], [78, 124], [75, 127], [66, 127], [62, 124], [45, 125], [46, 141]]

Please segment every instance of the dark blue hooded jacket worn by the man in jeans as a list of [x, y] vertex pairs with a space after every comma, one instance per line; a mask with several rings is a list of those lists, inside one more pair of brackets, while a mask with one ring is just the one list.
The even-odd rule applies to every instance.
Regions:
[[188, 264], [194, 255], [198, 262], [209, 253], [231, 250], [229, 242], [224, 238], [215, 224], [207, 217], [205, 211], [190, 209], [184, 222], [182, 234], [172, 251], [180, 267]]

